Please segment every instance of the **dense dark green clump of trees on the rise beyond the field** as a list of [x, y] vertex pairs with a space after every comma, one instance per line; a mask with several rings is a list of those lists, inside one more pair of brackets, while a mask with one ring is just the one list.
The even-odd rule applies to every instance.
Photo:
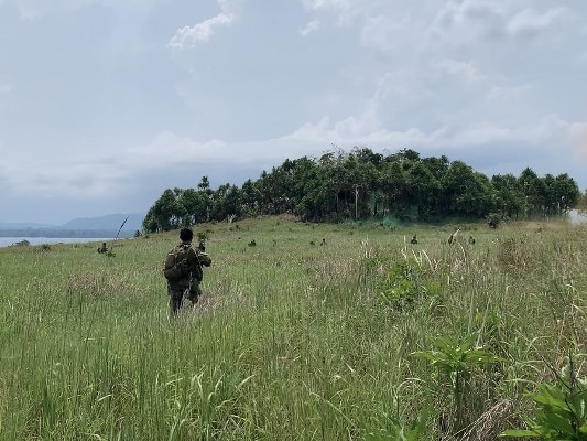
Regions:
[[368, 148], [320, 158], [285, 160], [242, 186], [210, 189], [203, 176], [196, 189], [167, 189], [143, 219], [145, 232], [208, 220], [292, 213], [304, 220], [340, 222], [395, 216], [431, 222], [464, 218], [532, 218], [574, 208], [580, 191], [568, 174], [539, 176], [526, 168], [519, 176], [489, 179], [463, 161], [422, 158], [404, 149], [383, 155]]

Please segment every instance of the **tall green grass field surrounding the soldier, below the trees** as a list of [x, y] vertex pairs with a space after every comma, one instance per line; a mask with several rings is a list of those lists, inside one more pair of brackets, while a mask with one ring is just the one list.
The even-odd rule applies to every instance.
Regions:
[[117, 240], [112, 257], [99, 244], [0, 248], [0, 439], [490, 440], [523, 428], [536, 415], [528, 392], [569, 361], [585, 377], [587, 229], [466, 224], [448, 245], [456, 227], [197, 225], [213, 265], [197, 308], [175, 320], [161, 266], [177, 232]]

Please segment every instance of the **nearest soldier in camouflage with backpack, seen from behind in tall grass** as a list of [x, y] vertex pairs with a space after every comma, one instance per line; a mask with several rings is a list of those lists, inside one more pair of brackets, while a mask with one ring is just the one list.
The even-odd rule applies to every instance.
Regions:
[[[167, 278], [170, 311], [176, 315], [182, 308], [184, 297], [195, 305], [202, 295], [199, 283], [204, 277], [202, 266], [211, 265], [210, 257], [200, 248], [192, 247], [194, 233], [189, 228], [180, 230], [180, 244], [175, 246], [165, 260], [164, 275]], [[177, 268], [181, 267], [180, 270]], [[175, 271], [176, 275], [172, 273]]]

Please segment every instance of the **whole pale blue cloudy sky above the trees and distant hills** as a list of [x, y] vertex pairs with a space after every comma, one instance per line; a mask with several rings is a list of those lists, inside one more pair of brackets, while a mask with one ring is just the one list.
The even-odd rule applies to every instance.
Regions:
[[585, 0], [0, 0], [0, 223], [369, 148], [587, 189]]

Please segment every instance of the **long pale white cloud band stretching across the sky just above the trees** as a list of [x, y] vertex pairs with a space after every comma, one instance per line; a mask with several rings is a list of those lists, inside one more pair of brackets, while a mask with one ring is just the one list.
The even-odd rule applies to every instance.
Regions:
[[[91, 198], [111, 194], [122, 196], [135, 191], [153, 174], [169, 174], [182, 168], [196, 170], [197, 165], [204, 175], [210, 165], [221, 164], [227, 176], [246, 164], [269, 170], [286, 158], [319, 157], [333, 144], [344, 149], [366, 146], [374, 151], [411, 147], [449, 157], [471, 148], [492, 149], [500, 144], [522, 146], [523, 149], [534, 149], [534, 152], [542, 149], [546, 154], [546, 146], [552, 144], [558, 146], [558, 152], [563, 151], [561, 149], [575, 152], [587, 161], [586, 141], [587, 122], [567, 122], [554, 115], [529, 126], [498, 126], [487, 121], [460, 130], [449, 127], [430, 131], [417, 127], [389, 130], [381, 126], [373, 106], [357, 117], [338, 121], [324, 117], [283, 137], [256, 142], [199, 142], [165, 131], [146, 144], [122, 149], [116, 154], [95, 153], [89, 158], [69, 158], [59, 162], [31, 158], [26, 173], [21, 172], [18, 161], [9, 158], [2, 164], [2, 178], [9, 192], [19, 189], [22, 194], [42, 192], [47, 197]], [[551, 153], [558, 154], [556, 151]], [[235, 183], [230, 179], [228, 182]]]

